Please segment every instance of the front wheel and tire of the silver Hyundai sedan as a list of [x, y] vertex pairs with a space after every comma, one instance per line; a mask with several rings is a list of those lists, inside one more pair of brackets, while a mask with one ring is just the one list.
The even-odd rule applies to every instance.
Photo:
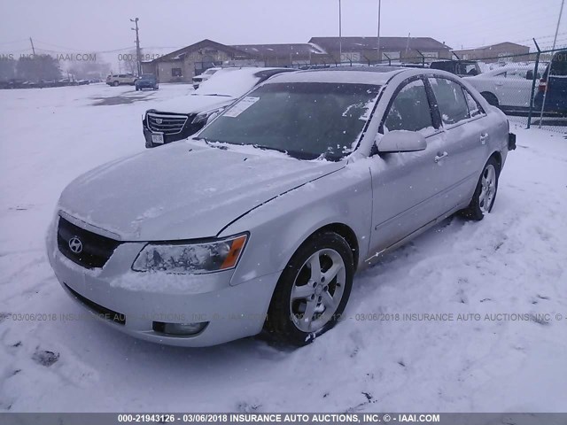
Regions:
[[265, 325], [268, 334], [277, 342], [302, 346], [333, 328], [348, 302], [353, 274], [353, 251], [342, 236], [324, 231], [307, 239], [277, 282]]

